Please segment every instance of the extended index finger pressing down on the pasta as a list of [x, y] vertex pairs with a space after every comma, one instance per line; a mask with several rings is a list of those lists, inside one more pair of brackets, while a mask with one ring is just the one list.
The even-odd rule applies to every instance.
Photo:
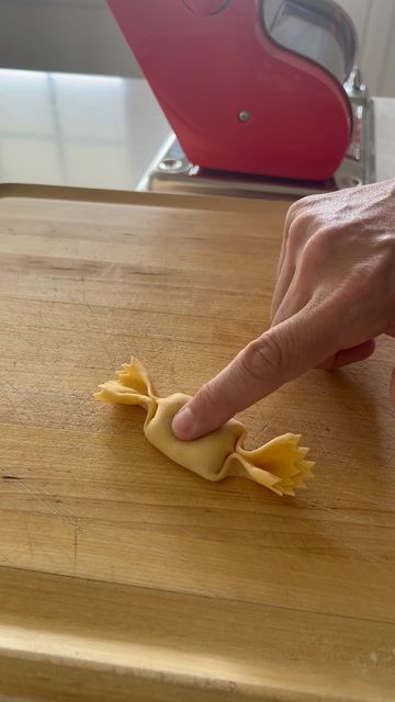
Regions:
[[[334, 321], [335, 320], [335, 321]], [[251, 341], [176, 415], [178, 439], [214, 431], [236, 412], [316, 367], [339, 348], [339, 315], [305, 307]]]

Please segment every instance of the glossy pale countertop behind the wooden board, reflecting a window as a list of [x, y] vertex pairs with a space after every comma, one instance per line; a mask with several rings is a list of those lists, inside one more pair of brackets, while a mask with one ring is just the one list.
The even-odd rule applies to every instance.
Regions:
[[[377, 180], [395, 99], [375, 99]], [[134, 190], [171, 131], [143, 79], [0, 69], [0, 182]]]

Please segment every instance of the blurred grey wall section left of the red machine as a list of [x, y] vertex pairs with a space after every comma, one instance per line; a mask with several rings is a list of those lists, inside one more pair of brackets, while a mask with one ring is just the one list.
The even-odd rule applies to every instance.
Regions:
[[0, 67], [139, 75], [105, 0], [0, 0]]

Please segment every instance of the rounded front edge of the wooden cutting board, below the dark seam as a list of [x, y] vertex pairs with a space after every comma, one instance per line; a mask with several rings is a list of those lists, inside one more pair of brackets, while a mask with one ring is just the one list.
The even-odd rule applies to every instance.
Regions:
[[[361, 626], [352, 618], [307, 614], [312, 632], [316, 626], [348, 632], [345, 661], [336, 671], [327, 666], [325, 673], [302, 665], [291, 682], [295, 652], [287, 636], [297, 635], [297, 610], [238, 602], [245, 643], [256, 631], [257, 618], [266, 620], [256, 644], [258, 649], [273, 648], [273, 654], [270, 667], [262, 669], [253, 647], [250, 660], [240, 658], [229, 636], [230, 600], [4, 567], [0, 595], [2, 590], [9, 593], [1, 597], [3, 702], [379, 702], [363, 679], [343, 679]], [[281, 647], [278, 641], [271, 643], [279, 634]], [[302, 663], [303, 648], [298, 656]]]

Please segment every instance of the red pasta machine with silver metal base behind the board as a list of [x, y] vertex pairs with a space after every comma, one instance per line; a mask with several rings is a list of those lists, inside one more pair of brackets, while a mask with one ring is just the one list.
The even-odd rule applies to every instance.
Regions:
[[306, 194], [374, 180], [373, 104], [332, 0], [108, 0], [174, 134], [145, 182]]

